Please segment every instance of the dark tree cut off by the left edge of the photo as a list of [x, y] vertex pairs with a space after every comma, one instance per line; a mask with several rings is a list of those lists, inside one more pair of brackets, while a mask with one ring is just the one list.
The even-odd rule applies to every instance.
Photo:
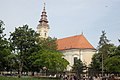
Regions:
[[9, 50], [8, 41], [5, 38], [5, 35], [3, 32], [5, 30], [4, 22], [0, 20], [0, 70], [5, 70], [7, 67], [7, 60], [5, 57], [7, 57], [11, 52]]

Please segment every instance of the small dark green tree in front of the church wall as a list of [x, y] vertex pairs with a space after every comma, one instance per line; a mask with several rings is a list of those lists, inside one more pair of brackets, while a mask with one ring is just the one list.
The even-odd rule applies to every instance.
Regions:
[[76, 60], [72, 71], [74, 71], [79, 79], [81, 79], [81, 75], [83, 71], [86, 69], [86, 65], [80, 60]]

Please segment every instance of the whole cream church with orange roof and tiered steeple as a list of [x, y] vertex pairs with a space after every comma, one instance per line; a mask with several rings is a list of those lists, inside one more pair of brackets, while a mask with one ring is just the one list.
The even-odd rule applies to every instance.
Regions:
[[[40, 34], [40, 37], [47, 38], [49, 29], [44, 4], [37, 32]], [[67, 71], [72, 69], [76, 59], [80, 59], [83, 63], [89, 66], [92, 56], [96, 52], [95, 48], [89, 43], [83, 34], [58, 39], [57, 45], [58, 50], [63, 53], [64, 58], [69, 62]]]

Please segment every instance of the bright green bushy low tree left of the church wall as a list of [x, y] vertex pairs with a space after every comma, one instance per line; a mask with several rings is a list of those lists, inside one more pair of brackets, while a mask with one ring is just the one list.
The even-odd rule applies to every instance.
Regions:
[[43, 50], [40, 55], [38, 53], [36, 56], [39, 58], [35, 60], [34, 65], [38, 65], [41, 69], [46, 67], [49, 72], [62, 72], [68, 65], [60, 52]]

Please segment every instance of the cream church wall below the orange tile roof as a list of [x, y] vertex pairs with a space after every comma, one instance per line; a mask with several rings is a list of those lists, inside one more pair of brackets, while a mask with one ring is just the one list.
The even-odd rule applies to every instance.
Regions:
[[62, 53], [64, 55], [64, 58], [69, 62], [69, 65], [67, 66], [67, 71], [70, 71], [74, 64], [74, 57], [81, 59], [81, 61], [85, 62], [86, 65], [88, 66], [91, 63], [91, 59], [93, 54], [95, 53], [95, 50], [69, 49], [63, 50]]

